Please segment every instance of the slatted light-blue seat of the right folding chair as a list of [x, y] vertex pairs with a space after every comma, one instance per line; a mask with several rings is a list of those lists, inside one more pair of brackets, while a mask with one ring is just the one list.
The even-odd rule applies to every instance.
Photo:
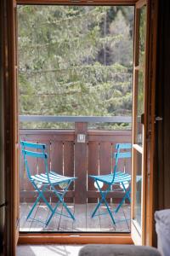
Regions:
[[[103, 183], [111, 184], [113, 183], [113, 174], [108, 175], [89, 175], [90, 177], [94, 177], [95, 180], [98, 180]], [[122, 182], [130, 182], [131, 181], [131, 175], [125, 172], [116, 172], [116, 177], [114, 179], [114, 183], [122, 183]]]

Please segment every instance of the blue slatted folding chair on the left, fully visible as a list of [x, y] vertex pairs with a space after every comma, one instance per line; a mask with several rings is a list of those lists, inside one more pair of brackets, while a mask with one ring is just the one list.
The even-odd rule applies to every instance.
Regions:
[[[48, 209], [50, 210], [51, 214], [49, 215], [48, 220], [45, 222], [45, 225], [47, 226], [51, 220], [51, 218], [54, 216], [54, 213], [63, 215], [68, 218], [72, 218], [75, 220], [74, 215], [71, 213], [70, 209], [67, 207], [64, 201], [64, 196], [71, 185], [71, 183], [76, 179], [76, 177], [65, 177], [62, 175], [59, 175], [56, 172], [48, 172], [48, 154], [45, 153], [45, 144], [39, 144], [39, 143], [27, 143], [24, 141], [20, 142], [21, 148], [22, 148], [22, 154], [24, 155], [24, 161], [26, 165], [26, 173], [27, 177], [30, 180], [33, 187], [37, 190], [38, 196], [37, 200], [31, 207], [31, 211], [28, 213], [28, 216], [26, 219], [31, 218], [31, 213], [33, 212], [34, 208], [37, 206], [38, 201], [42, 199], [45, 204], [47, 205]], [[26, 150], [26, 148], [31, 148], [29, 150]], [[32, 150], [40, 150], [41, 152], [32, 151]], [[29, 168], [29, 158], [37, 158], [42, 159], [44, 163], [44, 169], [45, 173], [31, 175], [31, 170]], [[65, 183], [65, 188], [63, 190], [56, 189], [56, 186], [61, 186], [61, 184]], [[50, 187], [51, 191], [54, 192], [54, 195], [57, 196], [58, 202], [56, 203], [55, 207], [51, 207], [51, 205], [48, 203], [47, 199], [44, 196], [45, 190]], [[42, 188], [42, 189], [41, 189]], [[59, 204], [62, 204], [63, 207], [65, 207], [66, 212], [68, 212], [68, 215], [63, 214], [61, 212], [57, 212], [57, 208], [59, 207]], [[33, 220], [40, 221], [35, 218], [31, 218]]]

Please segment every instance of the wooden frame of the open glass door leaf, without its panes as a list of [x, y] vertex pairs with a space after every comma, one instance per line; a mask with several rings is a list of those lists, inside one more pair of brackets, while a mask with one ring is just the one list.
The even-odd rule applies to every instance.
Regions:
[[[145, 45], [144, 45], [144, 52], [145, 52], [145, 58], [144, 58], [144, 132], [143, 132], [143, 142], [142, 147], [138, 145], [136, 142], [137, 137], [137, 121], [134, 120], [137, 117], [137, 104], [138, 104], [138, 86], [139, 86], [139, 71], [141, 70], [140, 63], [139, 63], [139, 10], [146, 6], [146, 34], [145, 34]], [[132, 207], [131, 207], [131, 213], [132, 213], [132, 236], [133, 241], [135, 244], [141, 245], [144, 244], [144, 235], [145, 235], [145, 218], [144, 218], [144, 212], [145, 212], [145, 201], [146, 201], [146, 195], [145, 195], [145, 182], [146, 182], [146, 137], [147, 137], [147, 95], [148, 95], [148, 56], [149, 56], [149, 42], [150, 42], [150, 23], [148, 22], [150, 15], [150, 2], [146, 0], [139, 0], [136, 3], [135, 6], [135, 33], [134, 33], [134, 60], [133, 60], [133, 165], [132, 165]], [[138, 75], [137, 75], [138, 74]], [[137, 152], [139, 152], [142, 155], [142, 186], [141, 186], [141, 229], [139, 227], [139, 224], [136, 220], [133, 220], [135, 218], [135, 212], [134, 212], [134, 205], [135, 205], [135, 195], [136, 195], [136, 178], [135, 178], [135, 169], [136, 169], [136, 157]], [[139, 234], [139, 230], [141, 234]], [[133, 235], [134, 234], [134, 235]]]

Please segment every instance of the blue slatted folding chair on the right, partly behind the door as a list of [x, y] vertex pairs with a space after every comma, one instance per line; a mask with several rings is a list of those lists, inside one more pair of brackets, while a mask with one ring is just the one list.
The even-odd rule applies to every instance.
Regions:
[[[116, 159], [116, 164], [114, 166], [113, 172], [108, 174], [108, 175], [99, 175], [99, 176], [89, 175], [89, 177], [94, 178], [94, 182], [97, 184], [97, 187], [99, 189], [99, 193], [101, 195], [101, 199], [99, 200], [99, 203], [97, 204], [97, 206], [94, 209], [94, 212], [92, 213], [92, 218], [94, 218], [94, 216], [97, 215], [96, 212], [98, 211], [101, 204], [104, 202], [105, 206], [106, 206], [106, 209], [108, 211], [107, 213], [110, 214], [111, 219], [113, 221], [113, 224], [116, 224], [115, 219], [113, 217], [113, 213], [111, 212], [111, 209], [108, 205], [108, 202], [106, 201], [106, 195], [109, 192], [114, 191], [114, 189], [112, 190], [111, 188], [115, 184], [116, 185], [117, 184], [122, 184], [122, 189], [125, 192], [125, 195], [123, 196], [122, 201], [120, 202], [118, 207], [116, 207], [116, 210], [114, 212], [118, 212], [118, 210], [120, 209], [120, 207], [122, 207], [122, 204], [126, 199], [128, 201], [131, 201], [131, 199], [130, 199], [130, 192], [131, 192], [130, 188], [129, 189], [126, 188], [126, 184], [131, 182], [131, 175], [126, 173], [126, 172], [122, 172], [122, 171], [118, 170], [118, 161], [120, 159], [131, 158], [131, 148], [132, 148], [131, 143], [118, 143], [118, 144], [116, 144], [117, 152], [114, 154], [114, 157]], [[122, 149], [123, 150], [126, 149], [128, 151], [121, 152]], [[100, 188], [99, 183], [101, 183], [101, 182], [105, 183], [107, 185], [107, 188], [105, 189], [105, 191], [102, 191], [102, 189]]]

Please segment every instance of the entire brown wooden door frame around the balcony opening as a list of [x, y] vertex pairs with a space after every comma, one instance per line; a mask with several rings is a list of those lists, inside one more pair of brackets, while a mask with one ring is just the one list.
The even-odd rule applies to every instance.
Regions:
[[[16, 11], [16, 4], [65, 4], [65, 5], [134, 5], [137, 1], [136, 0], [94, 0], [92, 3], [88, 3], [86, 0], [82, 0], [80, 3], [74, 2], [74, 1], [68, 1], [68, 0], [8, 0], [3, 2], [7, 2], [7, 24], [4, 24], [4, 31], [6, 32], [6, 41], [4, 42], [4, 60], [6, 60], [6, 57], [8, 55], [8, 65], [6, 66], [4, 64], [4, 127], [5, 127], [5, 141], [6, 141], [6, 148], [5, 148], [5, 164], [6, 164], [6, 170], [8, 170], [9, 177], [10, 178], [10, 188], [8, 192], [8, 207], [10, 209], [10, 213], [8, 216], [9, 220], [9, 227], [11, 229], [9, 241], [11, 244], [11, 249], [14, 250], [14, 247], [17, 242], [17, 229], [15, 227], [18, 226], [18, 217], [17, 217], [17, 202], [19, 198], [16, 198], [16, 188], [19, 187], [19, 180], [15, 178], [17, 176], [17, 172], [19, 171], [17, 168], [18, 160], [16, 155], [17, 148], [16, 145], [18, 143], [18, 115], [17, 115], [17, 101], [16, 101], [16, 67], [17, 67], [17, 60], [16, 60], [16, 23], [14, 19], [15, 11]], [[156, 27], [157, 27], [157, 2], [158, 0], [148, 0], [150, 3], [150, 14], [149, 14], [149, 24], [150, 26], [150, 40], [148, 48], [149, 50], [149, 57], [148, 57], [148, 79], [150, 80], [150, 102], [155, 101], [155, 84], [156, 84]], [[153, 26], [154, 25], [154, 26]], [[8, 73], [8, 76], [6, 75]], [[8, 88], [8, 90], [7, 90]], [[13, 106], [13, 108], [11, 108]], [[151, 109], [148, 108], [148, 116], [147, 116], [147, 122], [148, 127], [152, 126], [155, 122], [154, 119], [154, 113], [155, 113], [155, 106], [152, 105]], [[151, 116], [150, 116], [151, 114]], [[151, 121], [150, 121], [151, 120]], [[149, 131], [148, 131], [149, 132]], [[149, 144], [149, 147], [147, 147], [147, 150], [150, 153], [150, 157], [148, 158], [147, 154], [147, 166], [150, 170], [150, 183], [146, 183], [146, 190], [148, 191], [149, 195], [149, 201], [146, 205], [145, 209], [145, 216], [146, 216], [146, 227], [145, 230], [147, 231], [145, 236], [145, 245], [152, 245], [152, 238], [150, 235], [150, 232], [153, 231], [153, 210], [152, 210], [152, 201], [153, 201], [153, 162], [150, 161], [150, 158], [152, 158], [152, 155], [154, 154], [154, 151], [151, 152], [151, 149], [154, 150], [154, 144], [152, 143], [152, 138], [154, 137], [154, 132], [150, 133], [150, 139], [147, 142]], [[150, 143], [151, 142], [151, 143]], [[15, 170], [15, 172], [14, 172]], [[15, 173], [15, 175], [14, 175]], [[18, 233], [19, 234], [19, 233]], [[149, 238], [147, 238], [149, 236]], [[14, 239], [15, 237], [15, 239]], [[94, 234], [75, 234], [72, 236], [71, 234], [20, 234], [19, 237], [19, 243], [23, 242], [30, 242], [30, 243], [42, 243], [42, 242], [59, 242], [59, 243], [133, 243], [131, 235], [125, 235], [125, 234], [102, 234], [99, 235]]]

